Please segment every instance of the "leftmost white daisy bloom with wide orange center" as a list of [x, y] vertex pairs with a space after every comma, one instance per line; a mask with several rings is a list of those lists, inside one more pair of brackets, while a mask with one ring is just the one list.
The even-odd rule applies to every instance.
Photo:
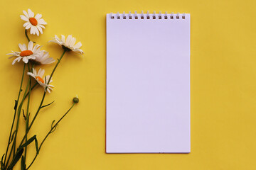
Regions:
[[28, 42], [28, 47], [26, 47], [25, 44], [18, 44], [18, 47], [21, 49], [21, 52], [12, 51], [12, 53], [6, 54], [12, 55], [11, 57], [9, 57], [9, 59], [12, 57], [16, 57], [12, 64], [14, 64], [16, 61], [19, 62], [21, 59], [23, 62], [28, 63], [28, 60], [36, 59], [36, 56], [38, 56], [41, 52], [40, 45], [35, 45], [35, 47], [33, 47], [32, 41]]

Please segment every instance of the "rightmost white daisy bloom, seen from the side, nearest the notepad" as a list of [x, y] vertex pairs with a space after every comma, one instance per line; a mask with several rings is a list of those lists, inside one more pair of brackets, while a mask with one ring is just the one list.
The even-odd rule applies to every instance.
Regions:
[[61, 38], [58, 38], [57, 35], [55, 35], [55, 38], [53, 40], [50, 40], [49, 42], [55, 42], [58, 45], [62, 46], [64, 50], [67, 51], [73, 51], [73, 52], [78, 52], [81, 55], [84, 53], [80, 47], [82, 47], [82, 43], [78, 42], [75, 44], [76, 39], [72, 37], [72, 35], [68, 35], [67, 40], [65, 40], [65, 36], [61, 35]]

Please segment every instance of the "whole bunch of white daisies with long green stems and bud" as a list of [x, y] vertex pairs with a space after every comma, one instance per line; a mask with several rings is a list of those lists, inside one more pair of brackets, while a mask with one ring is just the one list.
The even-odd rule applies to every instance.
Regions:
[[[82, 46], [81, 42], [75, 43], [76, 39], [73, 38], [71, 35], [68, 35], [67, 38], [65, 38], [64, 35], [61, 35], [60, 38], [55, 35], [55, 38], [53, 38], [53, 40], [50, 40], [50, 42], [55, 42], [63, 48], [62, 55], [60, 56], [60, 58], [57, 59], [57, 61], [55, 61], [52, 57], [50, 57], [49, 52], [41, 49], [41, 45], [36, 44], [36, 42], [33, 42], [28, 38], [28, 30], [30, 30], [30, 34], [32, 35], [39, 36], [40, 34], [43, 34], [43, 29], [45, 28], [47, 23], [43, 20], [42, 15], [38, 13], [35, 16], [30, 9], [28, 9], [28, 12], [23, 11], [23, 14], [24, 15], [21, 15], [21, 19], [23, 21], [26, 21], [26, 23], [23, 24], [23, 27], [25, 28], [25, 35], [28, 39], [28, 45], [18, 44], [20, 51], [12, 51], [11, 53], [7, 54], [11, 55], [11, 57], [9, 57], [10, 59], [14, 59], [12, 61], [12, 64], [23, 63], [23, 71], [21, 74], [21, 84], [18, 89], [18, 97], [16, 98], [14, 104], [14, 118], [11, 123], [11, 130], [9, 133], [9, 140], [6, 147], [6, 152], [1, 157], [1, 170], [13, 169], [19, 160], [21, 160], [21, 170], [29, 169], [33, 162], [36, 160], [36, 157], [38, 157], [41, 147], [48, 138], [48, 136], [52, 132], [54, 132], [60, 121], [79, 101], [78, 96], [73, 98], [73, 105], [70, 106], [68, 111], [58, 121], [55, 122], [55, 120], [53, 120], [50, 130], [48, 131], [46, 137], [44, 137], [42, 142], [38, 142], [36, 135], [28, 135], [28, 132], [33, 127], [33, 123], [35, 123], [36, 117], [41, 109], [48, 107], [50, 106], [50, 104], [53, 103], [44, 103], [43, 101], [46, 98], [46, 94], [50, 94], [50, 91], [53, 90], [53, 85], [51, 83], [53, 81], [53, 74], [56, 71], [58, 64], [60, 64], [60, 61], [67, 52], [77, 52], [82, 55], [83, 51], [80, 49], [80, 47]], [[53, 64], [54, 62], [55, 67], [53, 67], [50, 75], [45, 76], [45, 70], [38, 68], [42, 64]], [[26, 75], [28, 75], [29, 78], [28, 82], [25, 85], [25, 83], [23, 82], [23, 78]], [[25, 85], [25, 90], [23, 90], [23, 85]], [[32, 116], [29, 111], [29, 106], [31, 105], [30, 96], [36, 86], [42, 87], [43, 94], [37, 111]], [[20, 132], [19, 130], [19, 123], [21, 119], [24, 119], [26, 122], [25, 132]], [[17, 141], [17, 135], [22, 136], [21, 141]], [[33, 157], [33, 161], [29, 163], [26, 162], [28, 145], [36, 146], [36, 153]]]

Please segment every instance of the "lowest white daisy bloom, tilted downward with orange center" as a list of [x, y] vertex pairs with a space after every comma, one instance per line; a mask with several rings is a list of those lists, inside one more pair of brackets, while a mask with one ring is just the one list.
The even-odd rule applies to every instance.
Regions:
[[50, 78], [50, 76], [45, 76], [43, 78], [43, 74], [44, 74], [44, 69], [39, 69], [38, 72], [36, 72], [36, 69], [33, 68], [33, 72], [28, 72], [27, 74], [31, 77], [33, 77], [34, 79], [36, 79], [36, 81], [38, 82], [38, 84], [40, 84], [41, 86], [43, 86], [43, 89], [46, 91], [46, 87], [47, 91], [50, 94], [50, 90], [53, 90], [52, 87], [54, 87], [53, 85], [50, 85], [50, 83], [53, 81], [52, 79], [50, 79], [49, 85], [47, 85], [48, 80]]

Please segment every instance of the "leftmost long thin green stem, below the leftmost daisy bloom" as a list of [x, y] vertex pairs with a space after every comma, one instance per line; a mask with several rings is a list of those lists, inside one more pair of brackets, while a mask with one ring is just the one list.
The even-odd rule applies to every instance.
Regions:
[[[10, 135], [9, 135], [9, 140], [8, 140], [8, 145], [7, 145], [7, 149], [6, 149], [6, 154], [4, 156], [4, 166], [6, 166], [6, 156], [7, 156], [7, 153], [8, 153], [8, 149], [9, 149], [9, 146], [10, 146], [10, 140], [11, 140], [11, 133], [12, 133], [12, 130], [14, 128], [14, 122], [15, 122], [15, 118], [16, 118], [16, 112], [17, 112], [17, 105], [18, 105], [18, 100], [21, 96], [21, 88], [22, 88], [22, 84], [23, 84], [23, 78], [24, 78], [24, 72], [25, 72], [25, 67], [26, 67], [26, 64], [24, 63], [24, 66], [23, 66], [23, 72], [22, 72], [22, 77], [21, 77], [21, 85], [20, 85], [20, 88], [18, 90], [18, 98], [16, 100], [16, 103], [15, 103], [15, 108], [14, 108], [14, 119], [13, 119], [13, 122], [11, 124], [11, 131], [10, 131]], [[11, 154], [11, 152], [10, 152]]]

